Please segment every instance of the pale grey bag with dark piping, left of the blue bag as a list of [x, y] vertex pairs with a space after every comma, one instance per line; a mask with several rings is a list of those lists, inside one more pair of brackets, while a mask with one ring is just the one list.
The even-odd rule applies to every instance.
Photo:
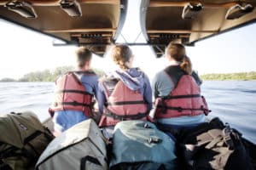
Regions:
[[88, 119], [61, 133], [39, 157], [36, 169], [108, 169], [105, 140], [96, 122]]

